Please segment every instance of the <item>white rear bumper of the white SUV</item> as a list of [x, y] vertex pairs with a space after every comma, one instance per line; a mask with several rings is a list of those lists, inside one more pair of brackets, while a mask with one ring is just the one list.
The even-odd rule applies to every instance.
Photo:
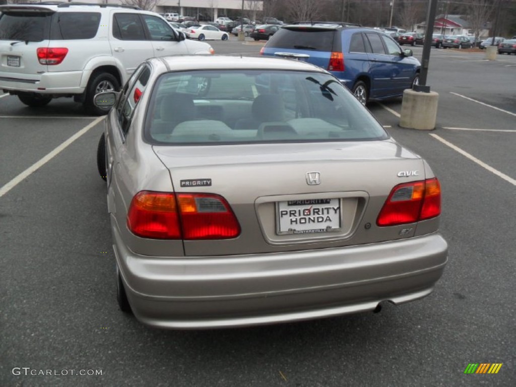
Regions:
[[82, 71], [46, 72], [37, 76], [0, 72], [0, 90], [41, 94], [80, 94]]

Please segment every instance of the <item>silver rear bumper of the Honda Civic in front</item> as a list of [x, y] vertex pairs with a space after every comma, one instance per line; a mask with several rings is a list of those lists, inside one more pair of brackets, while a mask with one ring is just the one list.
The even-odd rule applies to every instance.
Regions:
[[160, 328], [272, 324], [374, 310], [427, 296], [442, 276], [438, 233], [344, 248], [217, 257], [114, 250], [135, 316]]

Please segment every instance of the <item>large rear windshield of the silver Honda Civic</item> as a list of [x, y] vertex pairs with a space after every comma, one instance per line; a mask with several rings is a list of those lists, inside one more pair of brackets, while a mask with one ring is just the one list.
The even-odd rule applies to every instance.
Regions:
[[144, 135], [151, 143], [175, 145], [388, 138], [331, 75], [271, 70], [163, 74]]

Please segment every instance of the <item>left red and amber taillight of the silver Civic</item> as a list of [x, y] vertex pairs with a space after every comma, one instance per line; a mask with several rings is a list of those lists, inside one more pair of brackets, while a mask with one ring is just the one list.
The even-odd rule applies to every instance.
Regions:
[[131, 202], [127, 228], [155, 239], [228, 239], [240, 234], [228, 202], [211, 193], [141, 191]]

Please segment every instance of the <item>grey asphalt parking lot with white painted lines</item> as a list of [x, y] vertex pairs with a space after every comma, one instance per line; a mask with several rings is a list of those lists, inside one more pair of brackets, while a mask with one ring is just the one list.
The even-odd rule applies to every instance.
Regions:
[[[249, 43], [212, 44], [259, 52]], [[69, 99], [35, 109], [0, 95], [0, 385], [514, 385], [515, 80], [516, 56], [432, 49], [436, 130], [398, 127], [400, 99], [369, 106], [441, 181], [449, 263], [432, 295], [379, 314], [209, 331], [150, 329], [118, 310], [96, 169], [102, 118]], [[469, 363], [503, 365], [465, 375]]]

